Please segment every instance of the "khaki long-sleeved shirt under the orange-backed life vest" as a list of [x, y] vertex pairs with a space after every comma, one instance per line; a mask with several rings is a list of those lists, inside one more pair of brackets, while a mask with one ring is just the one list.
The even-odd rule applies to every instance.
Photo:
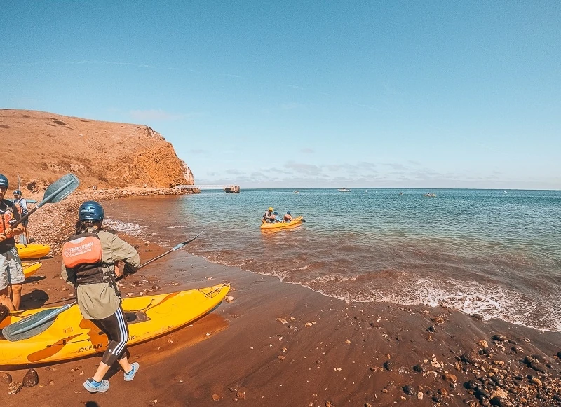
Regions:
[[[100, 238], [103, 250], [102, 267], [104, 271], [109, 270], [111, 274], [114, 274], [116, 261], [124, 261], [130, 268], [140, 266], [140, 256], [130, 244], [106, 230], [100, 230], [97, 236]], [[65, 263], [62, 263], [61, 275], [68, 284], [74, 286], [69, 281]], [[107, 318], [113, 315], [121, 305], [121, 297], [117, 295], [111, 284], [105, 282], [81, 284], [78, 286], [76, 296], [78, 297], [78, 308], [86, 319]]]

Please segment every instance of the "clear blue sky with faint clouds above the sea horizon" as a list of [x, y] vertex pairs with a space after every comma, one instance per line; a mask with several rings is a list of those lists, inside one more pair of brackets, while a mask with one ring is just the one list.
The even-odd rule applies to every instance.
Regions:
[[197, 184], [561, 189], [558, 1], [16, 1], [0, 108], [149, 125]]

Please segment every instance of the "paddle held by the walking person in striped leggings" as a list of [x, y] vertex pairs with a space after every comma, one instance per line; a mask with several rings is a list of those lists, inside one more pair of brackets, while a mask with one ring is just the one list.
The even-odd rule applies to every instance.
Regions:
[[[177, 244], [171, 249], [169, 249], [168, 251], [165, 251], [165, 253], [162, 253], [159, 256], [156, 256], [151, 260], [147, 261], [146, 263], [141, 264], [140, 266], [138, 266], [137, 271], [143, 268], [144, 266], [149, 265], [153, 261], [156, 261], [159, 258], [162, 258], [163, 256], [170, 254], [172, 251], [181, 249], [186, 244], [191, 243], [193, 240], [199, 237], [201, 233], [203, 233], [204, 231], [205, 229], [201, 230], [201, 232], [198, 233], [198, 235], [196, 235], [192, 239]], [[121, 280], [121, 278], [123, 278], [123, 275], [120, 275], [115, 280]], [[36, 336], [43, 331], [46, 331], [46, 329], [48, 329], [48, 327], [51, 326], [53, 322], [55, 322], [55, 318], [57, 317], [57, 315], [61, 314], [62, 312], [65, 312], [70, 307], [72, 307], [72, 305], [74, 305], [75, 303], [76, 300], [60, 308], [39, 311], [34, 315], [22, 319], [21, 321], [14, 322], [13, 324], [10, 324], [6, 326], [4, 329], [2, 329], [2, 336], [4, 336], [4, 338], [6, 338], [7, 340], [10, 340], [11, 342], [32, 338], [33, 336]]]

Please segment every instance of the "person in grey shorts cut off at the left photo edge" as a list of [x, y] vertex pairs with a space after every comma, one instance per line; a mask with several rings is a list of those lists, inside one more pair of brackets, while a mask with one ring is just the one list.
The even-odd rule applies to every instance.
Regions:
[[20, 309], [25, 275], [14, 236], [23, 233], [24, 229], [21, 223], [15, 228], [11, 227], [21, 216], [15, 204], [4, 199], [8, 186], [8, 178], [0, 174], [0, 303], [10, 311], [17, 311]]

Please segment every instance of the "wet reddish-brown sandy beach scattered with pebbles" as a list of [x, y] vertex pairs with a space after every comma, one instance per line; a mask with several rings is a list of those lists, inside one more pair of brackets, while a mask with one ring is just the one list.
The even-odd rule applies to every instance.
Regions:
[[[36, 242], [53, 243], [46, 224], [72, 231], [78, 194], [32, 218]], [[165, 249], [121, 235], [147, 261]], [[56, 244], [53, 245], [57, 247]], [[55, 251], [56, 254], [56, 251]], [[144, 282], [138, 284], [138, 282]], [[39, 385], [8, 393], [6, 406], [557, 406], [560, 333], [445, 308], [346, 303], [310, 289], [177, 251], [123, 281], [125, 295], [231, 284], [234, 301], [169, 335], [130, 347], [133, 382], [113, 370], [106, 394], [82, 387], [100, 355], [35, 366]], [[60, 257], [43, 260], [24, 285], [22, 308], [72, 299]], [[2, 366], [21, 382], [26, 368]], [[62, 402], [64, 400], [64, 402]]]

